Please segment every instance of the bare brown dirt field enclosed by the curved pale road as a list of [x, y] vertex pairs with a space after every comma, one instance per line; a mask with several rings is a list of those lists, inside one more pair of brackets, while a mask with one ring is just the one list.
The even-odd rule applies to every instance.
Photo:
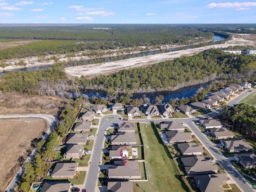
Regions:
[[0, 191], [20, 168], [20, 160], [26, 160], [31, 141], [42, 137], [47, 129], [48, 122], [40, 118], [0, 119]]

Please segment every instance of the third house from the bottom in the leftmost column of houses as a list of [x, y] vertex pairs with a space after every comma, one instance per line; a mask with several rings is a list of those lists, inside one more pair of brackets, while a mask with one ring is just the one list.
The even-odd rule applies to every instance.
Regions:
[[80, 159], [84, 154], [83, 145], [69, 144], [67, 145], [66, 151], [63, 155], [64, 159]]

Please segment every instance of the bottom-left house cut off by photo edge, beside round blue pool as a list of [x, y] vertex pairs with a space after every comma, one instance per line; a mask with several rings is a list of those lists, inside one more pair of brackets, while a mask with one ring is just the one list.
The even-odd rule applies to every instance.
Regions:
[[44, 182], [41, 192], [69, 192], [72, 182]]

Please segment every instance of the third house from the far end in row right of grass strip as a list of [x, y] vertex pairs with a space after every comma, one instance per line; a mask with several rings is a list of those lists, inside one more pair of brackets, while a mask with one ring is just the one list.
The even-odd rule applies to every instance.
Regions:
[[204, 154], [203, 146], [195, 143], [178, 143], [177, 144], [182, 155], [202, 155]]

